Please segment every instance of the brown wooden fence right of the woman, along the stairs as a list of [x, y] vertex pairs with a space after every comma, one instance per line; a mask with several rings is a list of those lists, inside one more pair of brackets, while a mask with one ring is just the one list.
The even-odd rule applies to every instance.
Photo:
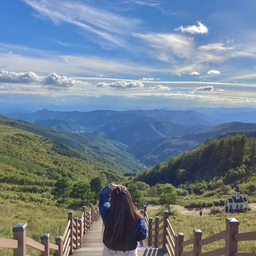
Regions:
[[[137, 204], [135, 206], [137, 207]], [[193, 238], [184, 241], [184, 234], [174, 233], [168, 220], [168, 211], [164, 211], [161, 219], [156, 216], [154, 222], [152, 218], [148, 217], [146, 205], [140, 212], [146, 221], [148, 246], [155, 248], [162, 246], [162, 250], [168, 256], [256, 256], [256, 252], [238, 252], [238, 242], [256, 240], [256, 231], [238, 233], [239, 222], [235, 218], [226, 218], [226, 230], [218, 234], [202, 239], [201, 230], [194, 229]], [[221, 239], [225, 239], [225, 247], [210, 252], [201, 252], [202, 246]], [[190, 244], [193, 244], [193, 250], [183, 252], [184, 246]]]

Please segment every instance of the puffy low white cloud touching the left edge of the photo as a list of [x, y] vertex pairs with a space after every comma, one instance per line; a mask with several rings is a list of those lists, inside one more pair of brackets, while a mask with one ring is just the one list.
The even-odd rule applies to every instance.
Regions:
[[37, 82], [40, 78], [33, 72], [16, 73], [0, 70], [0, 82], [2, 83], [31, 83]]

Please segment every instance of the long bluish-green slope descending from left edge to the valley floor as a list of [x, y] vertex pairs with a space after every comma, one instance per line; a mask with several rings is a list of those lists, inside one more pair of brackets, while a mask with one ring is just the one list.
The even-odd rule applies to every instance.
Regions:
[[144, 168], [144, 164], [141, 164], [132, 154], [126, 152], [127, 146], [120, 142], [104, 140], [96, 136], [82, 135], [64, 130], [54, 130], [22, 120], [12, 120], [0, 115], [0, 123], [1, 122], [21, 130], [50, 138], [55, 142], [64, 144], [65, 146], [91, 156], [94, 160], [104, 164], [107, 168], [122, 173], [138, 172]]

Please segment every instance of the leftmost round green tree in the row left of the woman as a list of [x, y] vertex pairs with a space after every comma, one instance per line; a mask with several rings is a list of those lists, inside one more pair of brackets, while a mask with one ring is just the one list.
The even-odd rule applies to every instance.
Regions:
[[52, 194], [58, 202], [64, 203], [67, 202], [70, 192], [72, 191], [72, 180], [68, 177], [59, 178], [54, 184], [54, 189]]

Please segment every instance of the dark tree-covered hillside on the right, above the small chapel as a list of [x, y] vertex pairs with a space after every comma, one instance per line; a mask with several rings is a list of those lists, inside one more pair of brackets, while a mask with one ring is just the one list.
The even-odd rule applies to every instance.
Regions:
[[156, 164], [138, 174], [150, 185], [156, 183], [180, 184], [219, 180], [225, 184], [242, 182], [255, 174], [256, 139], [232, 136], [210, 140], [207, 144], [172, 157], [164, 164]]

